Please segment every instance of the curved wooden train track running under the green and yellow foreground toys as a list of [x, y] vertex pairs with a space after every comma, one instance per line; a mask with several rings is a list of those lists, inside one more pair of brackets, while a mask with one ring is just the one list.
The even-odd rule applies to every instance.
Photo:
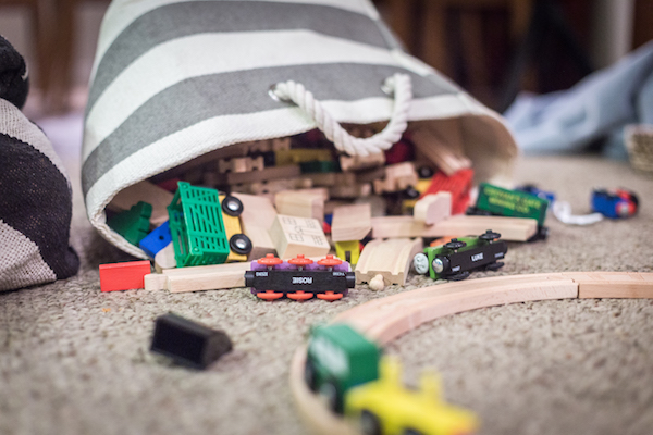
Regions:
[[[383, 346], [444, 315], [515, 302], [571, 298], [653, 298], [653, 273], [564, 272], [433, 285], [362, 303], [338, 314], [333, 322], [348, 323]], [[319, 434], [356, 434], [307, 388], [305, 361], [303, 346], [293, 356], [289, 375], [301, 418]]]

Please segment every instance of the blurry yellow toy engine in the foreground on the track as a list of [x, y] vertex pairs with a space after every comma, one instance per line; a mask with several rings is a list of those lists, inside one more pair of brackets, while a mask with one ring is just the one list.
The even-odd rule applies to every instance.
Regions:
[[401, 382], [401, 363], [384, 357], [378, 381], [352, 388], [345, 415], [356, 419], [366, 435], [468, 435], [478, 430], [477, 417], [446, 403], [435, 373], [423, 373], [421, 388], [411, 391]]

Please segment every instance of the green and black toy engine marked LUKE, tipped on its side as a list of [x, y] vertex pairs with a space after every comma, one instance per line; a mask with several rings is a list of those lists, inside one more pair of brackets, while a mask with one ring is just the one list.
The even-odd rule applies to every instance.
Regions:
[[495, 241], [501, 234], [488, 229], [478, 237], [454, 238], [448, 244], [427, 247], [412, 259], [415, 271], [433, 279], [465, 279], [472, 270], [484, 268], [497, 270], [508, 247], [505, 241]]

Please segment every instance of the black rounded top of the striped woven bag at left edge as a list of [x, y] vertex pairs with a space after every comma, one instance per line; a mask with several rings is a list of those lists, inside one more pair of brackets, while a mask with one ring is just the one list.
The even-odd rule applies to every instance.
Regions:
[[29, 77], [23, 57], [0, 36], [0, 98], [21, 109], [27, 99]]

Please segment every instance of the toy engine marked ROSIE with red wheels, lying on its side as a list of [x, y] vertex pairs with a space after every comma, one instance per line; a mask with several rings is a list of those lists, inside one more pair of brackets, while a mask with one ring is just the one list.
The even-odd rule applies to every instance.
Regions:
[[356, 285], [356, 274], [349, 269], [349, 263], [333, 256], [313, 262], [304, 256], [283, 261], [268, 254], [251, 262], [251, 270], [245, 272], [245, 286], [264, 300], [306, 300], [313, 296], [337, 300]]

